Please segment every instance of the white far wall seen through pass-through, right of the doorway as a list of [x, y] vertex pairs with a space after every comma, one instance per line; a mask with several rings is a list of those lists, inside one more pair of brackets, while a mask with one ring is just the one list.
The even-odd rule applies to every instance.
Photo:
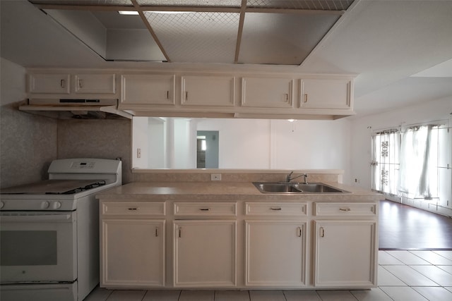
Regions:
[[342, 169], [350, 183], [350, 121], [200, 119], [220, 131], [219, 168]]

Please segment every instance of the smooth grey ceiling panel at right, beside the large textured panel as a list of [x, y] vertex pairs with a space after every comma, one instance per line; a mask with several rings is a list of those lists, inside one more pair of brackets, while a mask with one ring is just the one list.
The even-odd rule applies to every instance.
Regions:
[[239, 63], [299, 65], [340, 16], [246, 13]]

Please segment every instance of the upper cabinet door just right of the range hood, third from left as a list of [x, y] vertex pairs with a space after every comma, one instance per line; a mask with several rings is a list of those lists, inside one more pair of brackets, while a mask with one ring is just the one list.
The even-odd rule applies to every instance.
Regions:
[[174, 75], [121, 75], [121, 104], [174, 105]]

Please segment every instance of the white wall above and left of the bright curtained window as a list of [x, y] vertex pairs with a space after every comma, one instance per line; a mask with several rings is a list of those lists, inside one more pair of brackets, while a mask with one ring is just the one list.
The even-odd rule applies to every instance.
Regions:
[[[352, 184], [362, 188], [371, 188], [372, 130], [439, 120], [448, 120], [448, 124], [451, 126], [452, 115], [450, 113], [452, 113], [452, 97], [446, 97], [386, 113], [364, 116], [352, 121]], [[357, 178], [358, 183], [354, 182], [355, 178]]]

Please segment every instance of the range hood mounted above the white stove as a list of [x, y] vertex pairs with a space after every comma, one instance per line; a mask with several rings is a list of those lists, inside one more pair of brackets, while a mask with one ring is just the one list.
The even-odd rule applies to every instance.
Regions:
[[118, 109], [118, 99], [28, 99], [19, 110], [59, 119], [132, 118]]

